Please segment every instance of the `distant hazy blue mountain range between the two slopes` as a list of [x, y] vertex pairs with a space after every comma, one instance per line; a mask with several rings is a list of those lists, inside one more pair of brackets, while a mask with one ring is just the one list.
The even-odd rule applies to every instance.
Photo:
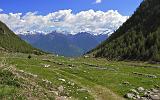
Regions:
[[37, 33], [19, 36], [34, 47], [63, 56], [80, 56], [108, 37], [108, 35], [91, 35], [86, 32], [76, 35], [52, 32], [47, 35]]

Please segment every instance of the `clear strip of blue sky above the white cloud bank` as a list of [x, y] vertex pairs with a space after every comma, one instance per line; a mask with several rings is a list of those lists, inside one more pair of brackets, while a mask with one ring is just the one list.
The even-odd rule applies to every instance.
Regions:
[[45, 15], [63, 9], [72, 9], [73, 13], [93, 9], [95, 11], [118, 10], [122, 15], [130, 16], [142, 0], [1, 0], [0, 8], [5, 13], [26, 13], [38, 11]]

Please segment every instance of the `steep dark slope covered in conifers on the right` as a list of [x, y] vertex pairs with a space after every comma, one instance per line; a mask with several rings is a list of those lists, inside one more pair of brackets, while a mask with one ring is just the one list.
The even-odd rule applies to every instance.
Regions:
[[88, 52], [108, 59], [160, 61], [160, 1], [144, 0], [109, 39]]

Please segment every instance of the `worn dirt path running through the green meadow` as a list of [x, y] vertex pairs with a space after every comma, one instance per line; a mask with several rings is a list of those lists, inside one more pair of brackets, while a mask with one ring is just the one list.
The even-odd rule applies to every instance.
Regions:
[[[63, 75], [65, 78], [75, 82], [76, 84], [80, 85], [84, 89], [88, 90], [90, 95], [92, 95], [95, 98], [95, 100], [124, 100], [124, 98], [116, 95], [108, 88], [103, 87], [101, 85], [97, 85], [96, 83], [88, 81], [85, 78], [76, 76], [74, 74], [71, 74], [62, 70], [57, 70], [57, 73], [61, 75], [65, 73], [65, 75]], [[88, 84], [86, 84], [86, 82]]]

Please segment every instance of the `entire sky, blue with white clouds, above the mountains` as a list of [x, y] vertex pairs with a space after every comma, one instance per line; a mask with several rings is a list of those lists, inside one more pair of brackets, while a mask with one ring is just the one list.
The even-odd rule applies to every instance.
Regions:
[[0, 0], [0, 20], [26, 32], [110, 34], [143, 0]]

